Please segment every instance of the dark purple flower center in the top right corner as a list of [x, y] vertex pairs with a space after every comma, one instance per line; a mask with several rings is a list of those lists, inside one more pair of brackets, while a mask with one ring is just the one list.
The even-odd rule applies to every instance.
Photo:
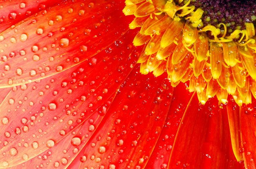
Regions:
[[236, 29], [245, 29], [245, 22], [256, 25], [256, 0], [191, 0], [189, 6], [192, 5], [195, 10], [204, 10], [204, 26], [211, 24], [218, 27], [218, 24], [224, 23], [227, 33], [232, 33]]

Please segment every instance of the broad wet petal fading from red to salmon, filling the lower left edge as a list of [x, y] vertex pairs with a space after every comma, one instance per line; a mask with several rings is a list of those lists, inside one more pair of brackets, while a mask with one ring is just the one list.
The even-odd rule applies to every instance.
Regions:
[[[50, 78], [13, 87], [0, 105], [0, 119], [9, 119], [0, 130], [0, 140], [7, 144], [0, 145], [1, 152], [5, 153], [0, 157], [0, 165], [18, 165], [46, 151], [92, 113], [101, 118], [100, 114], [104, 113], [97, 109], [106, 105], [135, 65], [137, 52], [141, 52], [141, 48], [132, 46], [132, 37], [136, 33], [127, 33], [117, 40], [110, 46], [111, 53], [103, 51]], [[96, 129], [94, 121], [90, 121], [88, 130]], [[6, 137], [6, 132], [11, 136]], [[38, 148], [32, 148], [33, 142], [37, 142]], [[22, 160], [25, 153], [29, 157]]]

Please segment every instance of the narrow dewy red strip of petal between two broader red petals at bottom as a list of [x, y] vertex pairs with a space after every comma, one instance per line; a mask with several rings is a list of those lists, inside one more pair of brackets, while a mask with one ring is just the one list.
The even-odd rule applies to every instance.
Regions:
[[166, 169], [171, 155], [173, 142], [180, 125], [180, 121], [189, 103], [192, 93], [186, 89], [186, 85], [180, 83], [173, 91], [173, 99], [161, 131], [157, 145], [153, 151], [147, 169]]

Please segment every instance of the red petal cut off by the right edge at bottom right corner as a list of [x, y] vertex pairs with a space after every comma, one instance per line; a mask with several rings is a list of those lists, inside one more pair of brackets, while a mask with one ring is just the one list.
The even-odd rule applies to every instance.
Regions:
[[243, 147], [243, 158], [245, 168], [256, 168], [256, 100], [252, 99], [252, 104], [243, 105], [240, 108], [240, 132]]

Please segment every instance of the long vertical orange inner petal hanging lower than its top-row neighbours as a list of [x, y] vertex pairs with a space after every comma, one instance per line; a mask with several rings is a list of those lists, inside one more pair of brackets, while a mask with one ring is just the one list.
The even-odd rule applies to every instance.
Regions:
[[211, 58], [211, 74], [214, 79], [218, 79], [222, 69], [223, 51], [218, 43], [212, 42], [210, 44], [210, 58]]

